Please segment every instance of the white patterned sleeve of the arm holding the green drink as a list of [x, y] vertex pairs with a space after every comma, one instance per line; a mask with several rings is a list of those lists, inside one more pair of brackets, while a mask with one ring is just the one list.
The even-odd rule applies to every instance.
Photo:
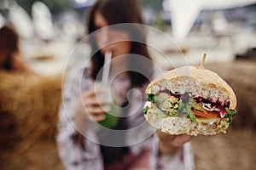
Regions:
[[[83, 150], [76, 139], [77, 131], [73, 126], [73, 115], [80, 96], [79, 83], [81, 82], [78, 77], [67, 79], [67, 84], [62, 91], [62, 105], [59, 111], [58, 134], [56, 137], [59, 156], [65, 169], [79, 170], [91, 167], [92, 169], [102, 170], [103, 164], [99, 145], [84, 139]], [[89, 138], [97, 138], [94, 129], [88, 129], [86, 133]]]

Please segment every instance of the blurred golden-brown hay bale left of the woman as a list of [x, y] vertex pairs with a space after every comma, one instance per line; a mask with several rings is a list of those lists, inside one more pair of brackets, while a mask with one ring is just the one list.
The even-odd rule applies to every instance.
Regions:
[[55, 145], [61, 75], [0, 71], [0, 80], [1, 167], [61, 169]]

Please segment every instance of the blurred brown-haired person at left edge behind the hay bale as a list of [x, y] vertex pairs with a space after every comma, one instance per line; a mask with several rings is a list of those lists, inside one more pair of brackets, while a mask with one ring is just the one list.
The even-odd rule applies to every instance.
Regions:
[[20, 54], [20, 37], [12, 26], [0, 29], [0, 69], [32, 73]]

